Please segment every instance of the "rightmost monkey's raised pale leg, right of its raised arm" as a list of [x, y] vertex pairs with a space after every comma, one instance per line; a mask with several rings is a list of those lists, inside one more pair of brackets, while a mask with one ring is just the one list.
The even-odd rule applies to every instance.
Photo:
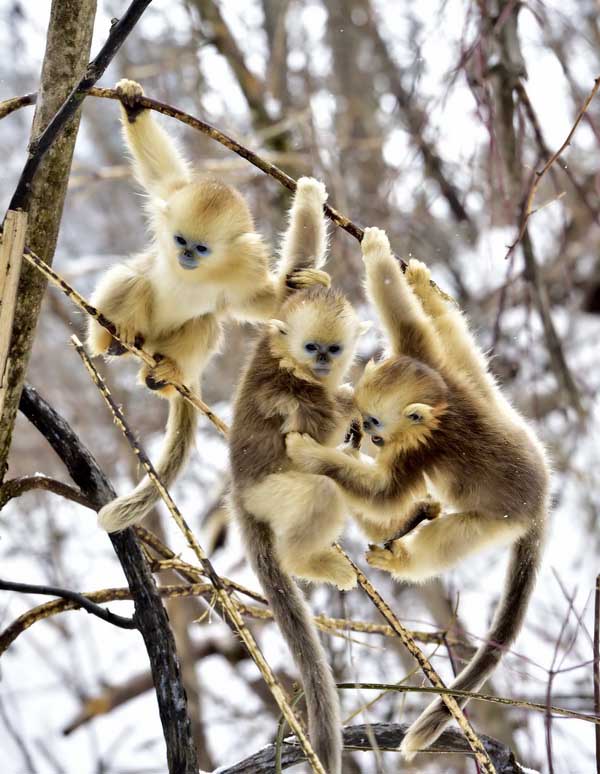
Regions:
[[467, 374], [486, 395], [495, 395], [496, 387], [487, 360], [460, 309], [436, 292], [431, 285], [429, 269], [421, 261], [412, 259], [409, 262], [406, 279], [435, 326], [446, 363]]

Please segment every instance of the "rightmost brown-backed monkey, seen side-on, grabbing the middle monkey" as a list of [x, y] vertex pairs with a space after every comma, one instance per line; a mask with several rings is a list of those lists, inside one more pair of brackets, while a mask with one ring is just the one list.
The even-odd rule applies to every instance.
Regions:
[[[428, 482], [455, 509], [371, 548], [369, 564], [398, 579], [423, 581], [482, 548], [512, 545], [491, 629], [451, 685], [478, 690], [521, 629], [535, 584], [549, 507], [545, 452], [489, 374], [460, 311], [432, 287], [428, 269], [411, 261], [403, 275], [376, 228], [365, 231], [362, 251], [367, 293], [391, 345], [386, 359], [367, 366], [355, 392], [377, 457], [365, 464], [298, 434], [288, 436], [288, 453], [303, 470], [331, 477], [364, 518], [408, 514]], [[410, 727], [404, 757], [428, 747], [449, 720], [436, 699]]]

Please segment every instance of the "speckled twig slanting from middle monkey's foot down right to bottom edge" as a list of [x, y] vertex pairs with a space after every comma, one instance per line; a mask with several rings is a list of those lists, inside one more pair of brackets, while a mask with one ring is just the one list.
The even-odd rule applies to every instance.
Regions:
[[340, 554], [344, 556], [348, 562], [350, 562], [350, 564], [352, 565], [352, 568], [356, 572], [359, 586], [367, 594], [371, 602], [375, 605], [377, 610], [379, 610], [381, 615], [385, 618], [385, 620], [392, 627], [392, 629], [396, 632], [396, 634], [400, 638], [400, 641], [402, 642], [404, 647], [408, 650], [408, 652], [411, 654], [411, 656], [419, 664], [419, 666], [423, 670], [423, 673], [425, 674], [429, 682], [434, 686], [434, 688], [442, 689], [442, 691], [440, 692], [440, 698], [448, 708], [448, 712], [454, 717], [458, 725], [461, 727], [464, 735], [467, 738], [467, 741], [469, 742], [469, 747], [473, 750], [475, 759], [480, 764], [483, 771], [487, 772], [488, 774], [495, 774], [496, 769], [494, 768], [494, 765], [490, 760], [490, 757], [487, 754], [485, 747], [481, 743], [481, 740], [473, 730], [473, 727], [471, 726], [469, 721], [466, 719], [464, 712], [460, 708], [460, 705], [456, 701], [456, 699], [447, 693], [443, 693], [443, 691], [446, 689], [446, 686], [444, 685], [438, 673], [431, 665], [431, 662], [429, 661], [427, 656], [417, 646], [414, 639], [410, 636], [408, 629], [406, 629], [400, 623], [400, 621], [392, 611], [391, 607], [387, 604], [387, 602], [384, 601], [383, 597], [375, 589], [375, 587], [369, 581], [366, 575], [359, 569], [359, 567], [352, 561], [352, 559], [350, 559], [350, 557], [346, 553], [344, 553], [344, 551], [340, 548], [340, 546], [336, 546], [336, 548], [340, 552]]

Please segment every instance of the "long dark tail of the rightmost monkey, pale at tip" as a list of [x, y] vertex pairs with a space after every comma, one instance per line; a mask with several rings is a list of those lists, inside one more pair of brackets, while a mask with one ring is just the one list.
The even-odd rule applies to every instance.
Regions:
[[[514, 642], [523, 625], [529, 599], [535, 586], [541, 562], [544, 517], [538, 517], [533, 527], [513, 545], [506, 571], [502, 599], [494, 614], [485, 642], [470, 663], [458, 675], [450, 688], [477, 691], [498, 665], [504, 651]], [[461, 707], [468, 699], [456, 697]], [[419, 750], [424, 750], [442, 733], [451, 720], [446, 705], [440, 698], [415, 720], [400, 745], [405, 760], [410, 761]]]

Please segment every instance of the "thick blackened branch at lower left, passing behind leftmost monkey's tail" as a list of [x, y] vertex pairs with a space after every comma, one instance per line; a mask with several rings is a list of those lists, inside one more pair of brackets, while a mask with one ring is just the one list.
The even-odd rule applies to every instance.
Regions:
[[[67, 422], [33, 387], [25, 385], [19, 408], [50, 443], [95, 509], [100, 509], [116, 497], [116, 492], [90, 452]], [[154, 578], [132, 530], [125, 530], [110, 539], [133, 594], [136, 621], [148, 652], [167, 746], [169, 772], [197, 774], [197, 755], [175, 642]]]

